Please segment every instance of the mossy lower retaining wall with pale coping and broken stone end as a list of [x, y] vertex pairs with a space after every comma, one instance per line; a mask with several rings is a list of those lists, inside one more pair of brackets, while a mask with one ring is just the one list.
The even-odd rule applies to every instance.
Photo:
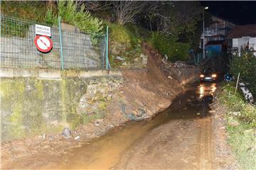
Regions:
[[104, 117], [119, 72], [1, 69], [2, 142], [74, 129]]

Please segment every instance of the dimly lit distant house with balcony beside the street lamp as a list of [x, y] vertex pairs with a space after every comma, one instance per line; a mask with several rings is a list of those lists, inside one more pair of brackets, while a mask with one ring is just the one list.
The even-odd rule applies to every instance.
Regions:
[[[208, 45], [208, 42], [224, 42], [226, 36], [230, 33], [230, 30], [234, 27], [234, 23], [212, 16], [210, 26], [205, 28], [205, 45]], [[201, 34], [200, 48], [203, 49], [203, 33]]]

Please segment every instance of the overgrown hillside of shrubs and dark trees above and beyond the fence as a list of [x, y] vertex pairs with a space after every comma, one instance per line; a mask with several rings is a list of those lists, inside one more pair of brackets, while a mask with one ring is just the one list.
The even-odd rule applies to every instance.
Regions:
[[[6, 16], [49, 25], [58, 24], [60, 16], [63, 23], [90, 33], [92, 44], [102, 40], [105, 23], [110, 27], [109, 57], [112, 68], [121, 65], [143, 66], [140, 57], [143, 54], [142, 42], [151, 42], [156, 50], [159, 50], [161, 55], [167, 55], [171, 62], [188, 60], [188, 49], [195, 46], [194, 42], [199, 42], [196, 39], [200, 37], [196, 34], [201, 8], [198, 3], [134, 1], [130, 7], [139, 5], [141, 8], [139, 11], [130, 12], [132, 20], [123, 26], [118, 24], [120, 18], [115, 11], [129, 9], [117, 8], [113, 4], [123, 6], [129, 2], [116, 4], [112, 1], [1, 1], [1, 11]], [[191, 8], [189, 11], [188, 6]], [[129, 18], [129, 15], [124, 15], [124, 18]], [[26, 36], [30, 23], [18, 26], [18, 23], [4, 22], [8, 27], [2, 29], [2, 34], [3, 31], [9, 30], [5, 34]]]

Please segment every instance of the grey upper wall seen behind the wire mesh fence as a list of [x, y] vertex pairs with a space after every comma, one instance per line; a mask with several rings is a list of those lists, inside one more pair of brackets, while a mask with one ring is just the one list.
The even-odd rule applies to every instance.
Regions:
[[[24, 23], [25, 24], [25, 23]], [[90, 35], [70, 30], [72, 26], [63, 25], [63, 57], [65, 68], [102, 68], [104, 56], [104, 36], [95, 39], [92, 45]], [[12, 30], [9, 30], [11, 33]], [[24, 31], [24, 30], [22, 30]], [[7, 33], [8, 34], [8, 33]], [[35, 25], [30, 25], [22, 36], [1, 35], [1, 67], [7, 68], [60, 68], [60, 37], [58, 28], [51, 28], [53, 50], [42, 53], [36, 49]]]

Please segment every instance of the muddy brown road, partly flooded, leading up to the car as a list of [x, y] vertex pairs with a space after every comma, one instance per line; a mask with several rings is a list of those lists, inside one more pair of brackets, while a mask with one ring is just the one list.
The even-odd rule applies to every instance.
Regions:
[[[155, 118], [114, 128], [107, 135], [60, 157], [36, 164], [33, 158], [11, 168], [33, 169], [214, 169], [209, 115], [216, 84], [194, 84]], [[33, 163], [32, 163], [33, 162]]]

